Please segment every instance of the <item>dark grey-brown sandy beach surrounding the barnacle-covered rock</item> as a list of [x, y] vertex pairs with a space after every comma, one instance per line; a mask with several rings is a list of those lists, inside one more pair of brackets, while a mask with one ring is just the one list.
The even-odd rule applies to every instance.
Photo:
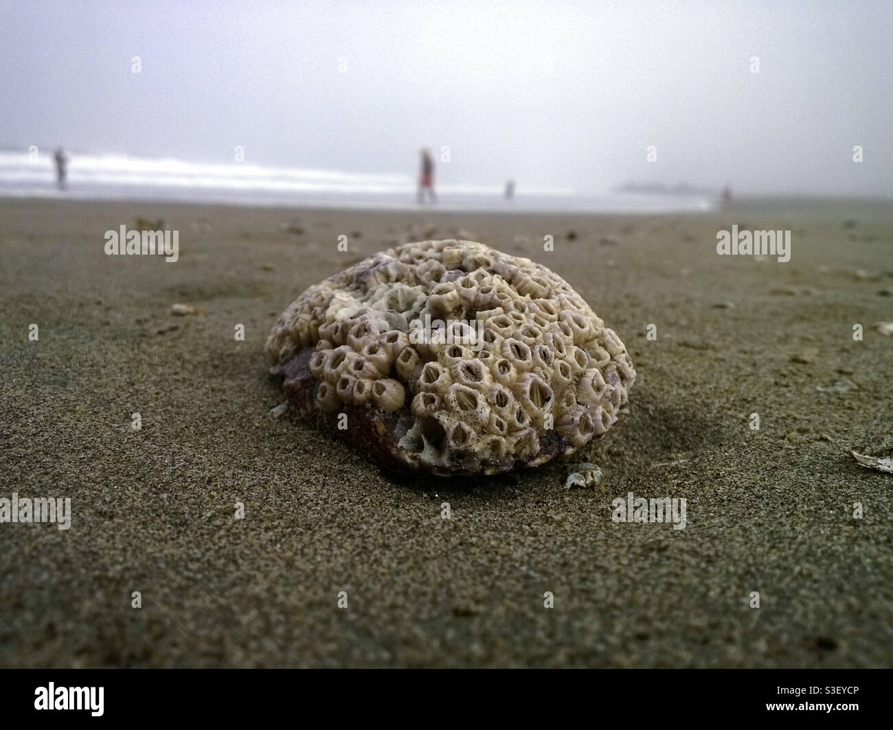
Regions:
[[[105, 255], [138, 217], [179, 230], [179, 261]], [[733, 224], [789, 230], [790, 261], [717, 255]], [[280, 311], [371, 253], [453, 237], [543, 263], [617, 331], [638, 372], [617, 425], [570, 460], [448, 480], [271, 419]], [[889, 667], [893, 477], [849, 450], [893, 454], [891, 252], [890, 203], [2, 200], [0, 497], [71, 498], [71, 528], [0, 524], [0, 666]], [[605, 480], [567, 490], [581, 461]], [[614, 522], [629, 493], [684, 498], [686, 527]]]

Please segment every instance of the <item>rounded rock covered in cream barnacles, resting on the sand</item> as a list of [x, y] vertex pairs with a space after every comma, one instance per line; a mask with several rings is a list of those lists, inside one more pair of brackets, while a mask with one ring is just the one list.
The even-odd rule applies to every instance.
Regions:
[[636, 377], [563, 278], [472, 241], [402, 245], [311, 286], [266, 353], [299, 417], [439, 475], [574, 452], [613, 426]]

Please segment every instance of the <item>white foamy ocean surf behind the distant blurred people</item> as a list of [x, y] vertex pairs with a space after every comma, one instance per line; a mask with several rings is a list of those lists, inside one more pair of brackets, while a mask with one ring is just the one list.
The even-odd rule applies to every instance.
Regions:
[[[413, 207], [409, 174], [267, 167], [247, 162], [204, 163], [126, 154], [71, 154], [68, 190], [55, 189], [50, 153], [0, 151], [0, 196], [57, 196], [99, 200], [173, 200], [240, 205]], [[519, 185], [505, 201], [502, 185], [438, 185], [441, 210], [707, 210], [704, 200], [641, 195], [578, 195], [570, 187]]]

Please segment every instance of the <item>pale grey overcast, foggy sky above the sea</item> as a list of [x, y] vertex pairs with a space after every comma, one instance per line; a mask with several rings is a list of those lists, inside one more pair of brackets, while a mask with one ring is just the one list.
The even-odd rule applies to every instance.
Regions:
[[0, 0], [0, 145], [893, 195], [891, 46], [889, 0]]

